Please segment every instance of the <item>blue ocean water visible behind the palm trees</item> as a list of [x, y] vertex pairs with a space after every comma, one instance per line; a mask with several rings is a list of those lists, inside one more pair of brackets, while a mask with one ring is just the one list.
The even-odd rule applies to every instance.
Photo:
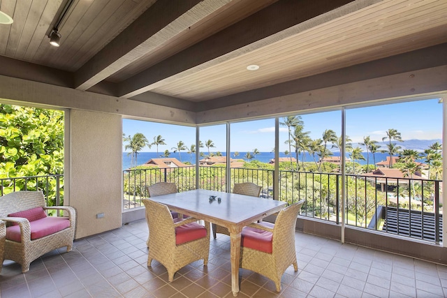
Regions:
[[[237, 159], [244, 159], [244, 155], [247, 154], [247, 152], [239, 152], [239, 156], [235, 157], [234, 152], [231, 153], [231, 158], [237, 158]], [[365, 161], [357, 161], [360, 163], [360, 165], [366, 165], [367, 164], [367, 154], [366, 152], [362, 153], [365, 157]], [[388, 154], [384, 153], [376, 153], [376, 163], [379, 163], [379, 161], [385, 161], [386, 156]], [[295, 154], [292, 155], [295, 157]], [[340, 156], [339, 152], [333, 152], [332, 156]], [[146, 163], [147, 161], [150, 161], [151, 158], [156, 158], [157, 154], [156, 152], [138, 152], [137, 157], [137, 164], [142, 165], [143, 163]], [[191, 164], [195, 163], [196, 161], [196, 154], [187, 154], [186, 152], [180, 153], [171, 153], [170, 158], [177, 158], [179, 161], [182, 161], [183, 163], [189, 162]], [[287, 157], [284, 153], [280, 153], [279, 157]], [[303, 154], [300, 154], [298, 156], [298, 159], [302, 161]], [[252, 160], [261, 161], [261, 163], [268, 163], [272, 158], [274, 158], [274, 154], [271, 152], [261, 152], [261, 154], [256, 155], [255, 158]], [[312, 162], [314, 161], [314, 158], [310, 156], [308, 153], [305, 154], [305, 161], [306, 162]], [[424, 162], [423, 160], [420, 160], [421, 162]], [[374, 160], [372, 158], [372, 154], [369, 154], [369, 164], [371, 165], [374, 163]], [[123, 153], [123, 170], [128, 169], [131, 166], [131, 156], [127, 153]]]

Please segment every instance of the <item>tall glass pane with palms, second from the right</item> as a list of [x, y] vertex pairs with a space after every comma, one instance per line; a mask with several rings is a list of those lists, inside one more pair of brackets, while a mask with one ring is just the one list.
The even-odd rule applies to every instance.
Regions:
[[339, 222], [340, 111], [279, 119], [279, 199], [305, 200], [301, 214]]

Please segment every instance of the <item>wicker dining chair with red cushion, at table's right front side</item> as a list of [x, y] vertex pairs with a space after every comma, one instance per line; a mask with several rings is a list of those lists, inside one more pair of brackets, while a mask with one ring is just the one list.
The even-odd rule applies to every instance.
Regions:
[[298, 271], [295, 253], [295, 223], [304, 200], [282, 209], [274, 224], [251, 223], [242, 229], [240, 268], [249, 269], [274, 281], [281, 291], [281, 276], [293, 265]]

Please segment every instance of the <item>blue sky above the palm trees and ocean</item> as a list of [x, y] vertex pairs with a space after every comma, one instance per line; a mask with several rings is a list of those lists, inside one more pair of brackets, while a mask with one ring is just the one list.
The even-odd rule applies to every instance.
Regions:
[[[318, 112], [302, 114], [305, 131], [314, 139], [321, 138], [325, 129], [332, 129], [337, 135], [342, 131], [342, 112]], [[283, 121], [282, 118], [279, 121]], [[346, 134], [353, 142], [362, 142], [369, 135], [372, 140], [381, 142], [388, 129], [394, 128], [401, 133], [403, 140], [434, 140], [442, 138], [442, 104], [439, 99], [418, 100], [406, 103], [358, 107], [346, 110]], [[159, 124], [149, 121], [123, 119], [125, 135], [143, 133], [149, 142], [161, 135], [167, 145], [159, 146], [159, 152], [173, 151], [177, 142], [182, 140], [187, 147], [196, 143], [196, 128]], [[274, 147], [274, 119], [244, 121], [230, 125], [231, 151], [272, 151]], [[279, 149], [284, 151], [288, 145], [286, 126], [280, 126]], [[212, 140], [215, 148], [210, 151], [226, 151], [226, 125], [203, 126], [200, 128], [200, 140]], [[124, 148], [123, 148], [124, 151]], [[142, 151], [156, 151], [156, 147]], [[203, 148], [207, 152], [207, 148]]]

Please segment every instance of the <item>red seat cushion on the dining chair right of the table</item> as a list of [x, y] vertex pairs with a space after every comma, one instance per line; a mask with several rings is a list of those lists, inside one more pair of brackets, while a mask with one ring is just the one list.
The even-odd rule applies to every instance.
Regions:
[[[273, 228], [273, 223], [262, 222], [267, 228]], [[260, 230], [251, 227], [242, 229], [241, 245], [247, 248], [256, 249], [256, 251], [263, 251], [264, 253], [272, 253], [273, 251], [273, 233], [265, 230]]]

